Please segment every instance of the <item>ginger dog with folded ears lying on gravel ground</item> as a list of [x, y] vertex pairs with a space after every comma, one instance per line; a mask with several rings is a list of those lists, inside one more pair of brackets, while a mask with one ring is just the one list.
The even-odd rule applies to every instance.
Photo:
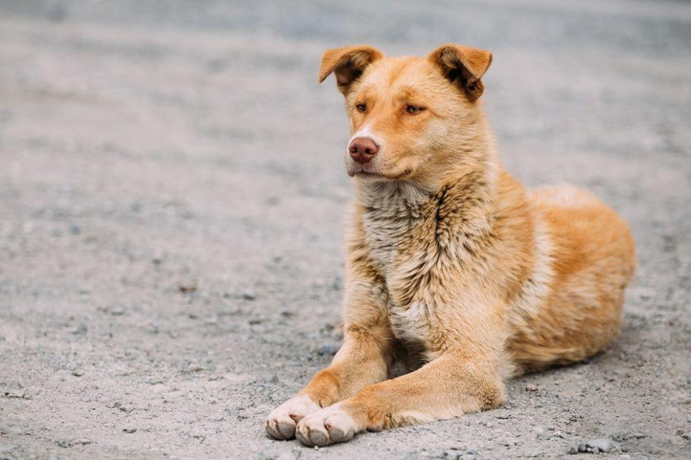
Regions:
[[[352, 137], [343, 345], [269, 414], [307, 446], [496, 408], [504, 382], [584, 360], [618, 334], [635, 271], [627, 224], [589, 192], [504, 170], [479, 98], [492, 53], [330, 49]], [[393, 377], [395, 363], [411, 372]]]

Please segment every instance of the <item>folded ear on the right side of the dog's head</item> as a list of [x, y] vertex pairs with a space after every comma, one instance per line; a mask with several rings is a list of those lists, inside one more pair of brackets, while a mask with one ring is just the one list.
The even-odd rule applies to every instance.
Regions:
[[433, 51], [427, 59], [442, 70], [447, 80], [458, 85], [471, 102], [482, 95], [484, 86], [480, 78], [492, 63], [489, 51], [448, 43]]

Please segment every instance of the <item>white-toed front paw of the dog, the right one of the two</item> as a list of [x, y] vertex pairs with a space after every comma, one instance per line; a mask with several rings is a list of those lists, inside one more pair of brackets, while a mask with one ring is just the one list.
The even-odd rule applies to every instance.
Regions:
[[309, 414], [298, 423], [295, 437], [306, 446], [327, 446], [350, 441], [358, 427], [341, 403]]

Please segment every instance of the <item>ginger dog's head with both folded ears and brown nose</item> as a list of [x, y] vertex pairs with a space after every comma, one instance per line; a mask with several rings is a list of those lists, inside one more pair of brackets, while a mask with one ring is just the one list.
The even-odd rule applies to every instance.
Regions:
[[385, 58], [368, 46], [326, 51], [319, 80], [335, 73], [345, 96], [348, 175], [424, 182], [462, 160], [459, 150], [481, 131], [476, 101], [491, 61], [487, 51], [456, 45], [427, 58]]

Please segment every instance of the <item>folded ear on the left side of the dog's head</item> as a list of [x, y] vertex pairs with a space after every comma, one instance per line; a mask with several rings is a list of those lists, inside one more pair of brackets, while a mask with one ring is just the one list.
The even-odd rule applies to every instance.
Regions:
[[360, 78], [365, 68], [384, 57], [384, 54], [371, 46], [346, 46], [345, 48], [331, 48], [321, 56], [319, 68], [319, 83], [326, 80], [332, 72], [336, 75], [338, 90], [343, 95], [348, 94], [350, 85]]

